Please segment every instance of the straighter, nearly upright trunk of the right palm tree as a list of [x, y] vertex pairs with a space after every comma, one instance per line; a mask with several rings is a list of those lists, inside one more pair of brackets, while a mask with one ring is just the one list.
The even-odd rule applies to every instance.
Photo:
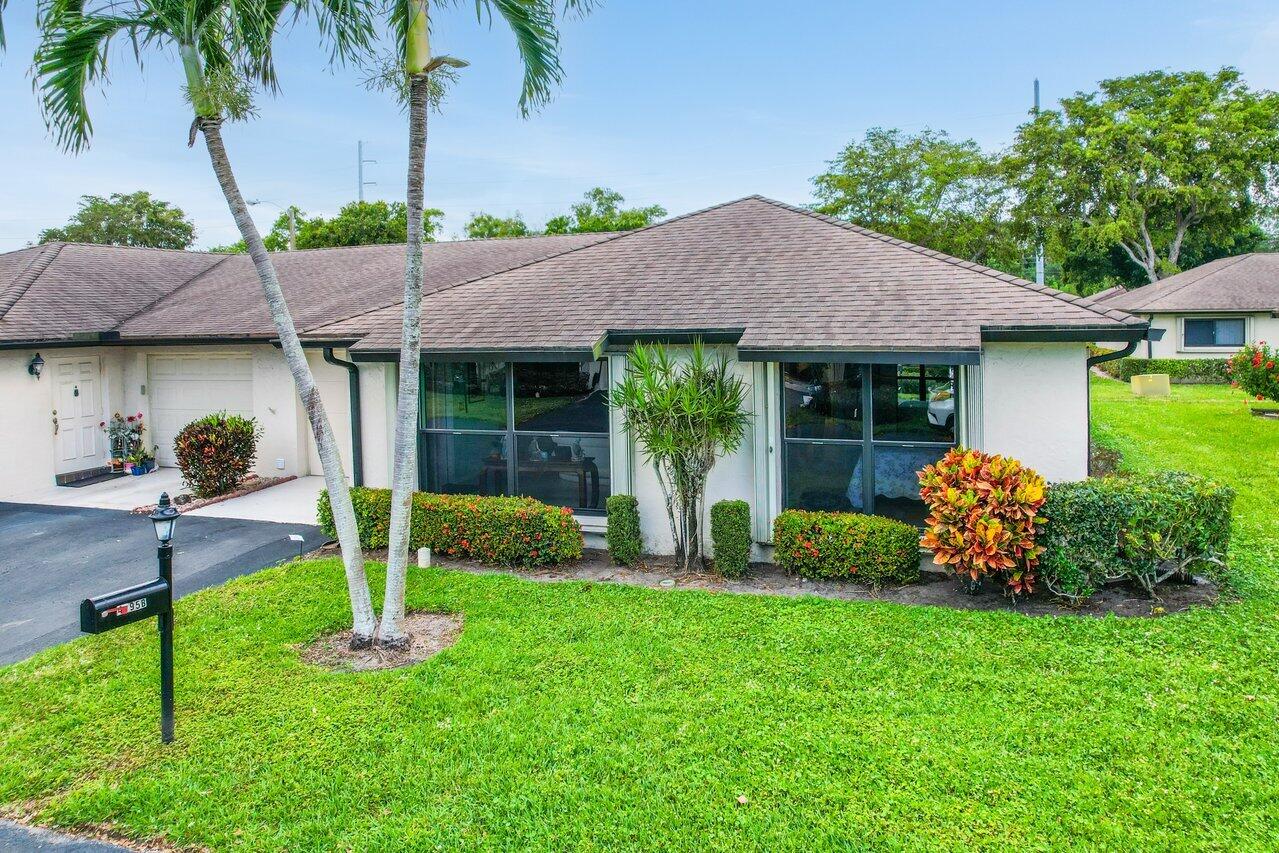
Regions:
[[428, 79], [409, 77], [408, 95], [408, 247], [404, 262], [404, 321], [400, 334], [399, 391], [395, 403], [395, 453], [391, 473], [391, 524], [386, 554], [386, 597], [379, 642], [403, 647], [404, 584], [417, 489], [418, 371], [422, 358], [422, 206], [426, 182]]

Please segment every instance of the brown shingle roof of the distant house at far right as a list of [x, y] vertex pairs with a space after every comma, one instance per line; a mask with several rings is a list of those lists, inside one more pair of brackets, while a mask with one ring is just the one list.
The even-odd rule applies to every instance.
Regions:
[[1123, 311], [1279, 309], [1279, 253], [1236, 254], [1101, 301]]

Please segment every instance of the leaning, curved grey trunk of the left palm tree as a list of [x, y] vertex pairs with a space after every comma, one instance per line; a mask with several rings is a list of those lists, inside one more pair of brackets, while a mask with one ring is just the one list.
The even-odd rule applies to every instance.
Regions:
[[214, 164], [214, 174], [217, 175], [223, 196], [226, 197], [226, 206], [230, 207], [240, 237], [244, 238], [244, 246], [248, 247], [248, 254], [253, 260], [257, 278], [262, 283], [262, 293], [271, 309], [271, 320], [280, 335], [284, 361], [288, 362], [289, 372], [293, 373], [293, 384], [298, 389], [298, 396], [307, 412], [307, 421], [311, 423], [311, 435], [315, 436], [316, 448], [320, 450], [325, 486], [329, 489], [329, 503], [333, 506], [333, 523], [338, 529], [341, 560], [347, 568], [347, 592], [350, 596], [352, 614], [350, 643], [353, 647], [367, 646], [377, 630], [377, 619], [373, 615], [373, 600], [368, 592], [368, 579], [365, 575], [365, 554], [359, 547], [356, 510], [350, 504], [350, 490], [347, 486], [345, 472], [341, 469], [338, 442], [334, 440], [333, 427], [329, 426], [329, 416], [325, 414], [324, 403], [320, 400], [320, 390], [311, 375], [311, 366], [307, 364], [306, 353], [302, 350], [302, 341], [298, 340], [297, 329], [293, 327], [293, 317], [289, 315], [289, 306], [284, 302], [284, 292], [275, 275], [275, 266], [266, 253], [266, 246], [262, 243], [262, 235], [257, 231], [257, 225], [249, 219], [248, 206], [244, 203], [244, 197], [240, 196], [239, 185], [231, 171], [230, 159], [223, 145], [221, 121], [219, 119], [197, 119], [197, 123], [205, 134], [208, 159]]

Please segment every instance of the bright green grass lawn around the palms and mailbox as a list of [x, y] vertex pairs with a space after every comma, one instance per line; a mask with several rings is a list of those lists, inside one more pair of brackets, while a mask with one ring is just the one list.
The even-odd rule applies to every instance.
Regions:
[[178, 605], [168, 748], [151, 623], [0, 670], [0, 803], [214, 849], [1275, 849], [1279, 423], [1100, 380], [1094, 418], [1132, 468], [1238, 487], [1238, 601], [1031, 619], [418, 570], [458, 645], [336, 675], [294, 645], [344, 624], [341, 569], [293, 564]]

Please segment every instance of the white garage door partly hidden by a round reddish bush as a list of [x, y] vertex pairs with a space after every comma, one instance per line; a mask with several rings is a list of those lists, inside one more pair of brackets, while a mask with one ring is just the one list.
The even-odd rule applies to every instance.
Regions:
[[182, 427], [211, 412], [253, 416], [253, 359], [238, 354], [151, 356], [147, 359], [151, 440], [173, 466]]

